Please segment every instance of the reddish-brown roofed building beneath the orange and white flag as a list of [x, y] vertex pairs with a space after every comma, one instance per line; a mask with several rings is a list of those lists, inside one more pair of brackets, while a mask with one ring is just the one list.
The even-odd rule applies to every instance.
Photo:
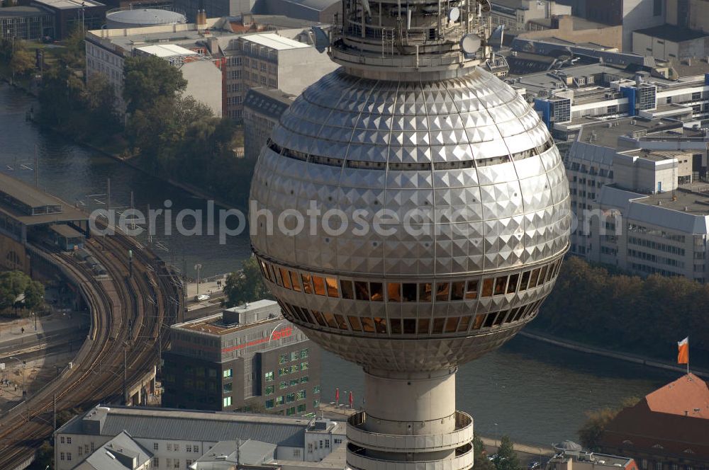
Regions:
[[696, 374], [644, 396], [605, 426], [601, 451], [628, 455], [641, 470], [709, 466], [709, 386]]

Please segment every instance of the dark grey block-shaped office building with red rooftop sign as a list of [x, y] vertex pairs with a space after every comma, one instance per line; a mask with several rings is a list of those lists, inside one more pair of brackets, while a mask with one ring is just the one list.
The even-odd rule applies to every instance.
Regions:
[[320, 404], [320, 350], [259, 300], [178, 323], [164, 353], [162, 404], [304, 415]]

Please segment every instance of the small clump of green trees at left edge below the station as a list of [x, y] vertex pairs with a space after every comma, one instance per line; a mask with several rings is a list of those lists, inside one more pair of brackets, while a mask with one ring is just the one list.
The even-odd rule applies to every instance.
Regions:
[[44, 286], [22, 271], [0, 273], [0, 314], [27, 316], [44, 305]]

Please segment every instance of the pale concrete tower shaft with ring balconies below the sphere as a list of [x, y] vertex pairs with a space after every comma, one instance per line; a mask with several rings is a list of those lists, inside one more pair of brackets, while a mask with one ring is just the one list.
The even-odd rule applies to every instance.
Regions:
[[364, 375], [364, 408], [347, 423], [347, 464], [358, 470], [467, 470], [473, 420], [455, 410], [455, 369]]

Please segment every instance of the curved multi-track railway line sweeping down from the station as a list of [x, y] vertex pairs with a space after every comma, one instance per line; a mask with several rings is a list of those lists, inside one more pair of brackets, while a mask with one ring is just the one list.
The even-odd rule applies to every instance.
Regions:
[[57, 411], [121, 400], [125, 384], [142, 378], [157, 363], [158, 348], [169, 333], [164, 326], [174, 323], [182, 308], [175, 277], [137, 241], [96, 236], [86, 241], [86, 248], [104, 265], [108, 279], [94, 277], [72, 256], [33, 248], [79, 286], [91, 311], [91, 329], [72, 369], [0, 416], [2, 469], [24, 468], [50, 437], [55, 396]]

